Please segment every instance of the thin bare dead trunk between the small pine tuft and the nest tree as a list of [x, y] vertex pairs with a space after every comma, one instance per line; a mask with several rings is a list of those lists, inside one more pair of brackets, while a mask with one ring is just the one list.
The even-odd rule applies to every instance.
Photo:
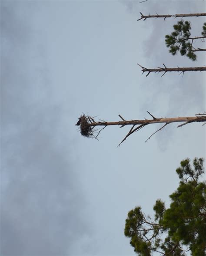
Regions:
[[[142, 68], [142, 72], [148, 72], [146, 74], [146, 77], [149, 76], [149, 74], [151, 72], [164, 72], [164, 74], [166, 74], [166, 72], [186, 72], [186, 71], [206, 71], [206, 67], [166, 67], [165, 64], [163, 64], [164, 67], [158, 67], [158, 68], [147, 68], [147, 67], [143, 67], [140, 64], [137, 63], [137, 65], [139, 65]], [[163, 75], [164, 75], [163, 74]], [[162, 77], [163, 77], [162, 75]]]

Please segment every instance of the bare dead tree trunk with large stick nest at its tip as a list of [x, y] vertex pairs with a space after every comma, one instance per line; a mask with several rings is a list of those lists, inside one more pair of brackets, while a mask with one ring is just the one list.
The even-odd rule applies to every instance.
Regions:
[[[118, 145], [120, 146], [123, 143], [123, 141], [126, 140], [126, 138], [128, 138], [134, 132], [139, 131], [141, 128], [144, 128], [146, 125], [164, 123], [164, 125], [161, 128], [159, 128], [152, 135], [150, 135], [150, 137], [146, 140], [148, 141], [154, 134], [156, 134], [156, 132], [161, 131], [166, 125], [169, 125], [170, 123], [183, 122], [183, 124], [177, 126], [177, 127], [182, 127], [183, 125], [187, 125], [193, 122], [206, 122], [206, 112], [204, 112], [203, 114], [196, 114], [193, 117], [176, 117], [176, 118], [155, 118], [152, 114], [150, 114], [149, 111], [147, 112], [149, 115], [152, 116], [153, 119], [127, 121], [121, 115], [119, 115], [119, 117], [123, 121], [107, 122], [107, 121], [94, 121], [94, 119], [91, 118], [90, 116], [82, 115], [79, 118], [78, 123], [80, 122], [80, 124], [78, 125], [80, 125], [81, 135], [87, 138], [97, 138], [100, 132], [104, 128], [110, 125], [117, 125], [117, 126], [120, 126], [120, 128], [125, 125], [132, 125], [132, 128], [130, 128], [130, 131], [126, 134], [126, 136]], [[94, 133], [96, 133], [97, 131], [94, 128], [97, 126], [104, 126], [104, 127], [95, 136]]]

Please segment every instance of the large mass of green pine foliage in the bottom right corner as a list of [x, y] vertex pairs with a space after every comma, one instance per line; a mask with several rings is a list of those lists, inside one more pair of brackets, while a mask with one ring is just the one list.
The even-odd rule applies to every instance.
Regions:
[[153, 252], [167, 256], [206, 255], [206, 182], [203, 175], [203, 158], [195, 158], [193, 166], [185, 159], [176, 169], [180, 182], [177, 190], [169, 195], [168, 209], [156, 200], [154, 219], [146, 217], [141, 207], [128, 212], [124, 234], [139, 256]]

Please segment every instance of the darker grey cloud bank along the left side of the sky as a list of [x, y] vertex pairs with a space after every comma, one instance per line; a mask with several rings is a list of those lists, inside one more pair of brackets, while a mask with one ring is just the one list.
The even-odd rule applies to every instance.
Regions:
[[59, 134], [66, 124], [33, 29], [36, 10], [30, 2], [1, 5], [1, 255], [75, 255], [77, 239], [90, 232], [86, 202], [75, 148]]

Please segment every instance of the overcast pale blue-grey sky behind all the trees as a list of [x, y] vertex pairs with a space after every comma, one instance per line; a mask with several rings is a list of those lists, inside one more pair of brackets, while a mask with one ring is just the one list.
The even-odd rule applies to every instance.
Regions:
[[[169, 206], [184, 158], [206, 156], [206, 125], [129, 127], [99, 141], [75, 126], [82, 113], [105, 121], [193, 116], [206, 111], [202, 72], [142, 75], [206, 65], [172, 56], [165, 34], [179, 19], [143, 14], [206, 12], [204, 0], [1, 1], [1, 255], [132, 256], [127, 212], [156, 199]], [[205, 17], [187, 18], [200, 36]], [[196, 42], [197, 47], [205, 47]]]

